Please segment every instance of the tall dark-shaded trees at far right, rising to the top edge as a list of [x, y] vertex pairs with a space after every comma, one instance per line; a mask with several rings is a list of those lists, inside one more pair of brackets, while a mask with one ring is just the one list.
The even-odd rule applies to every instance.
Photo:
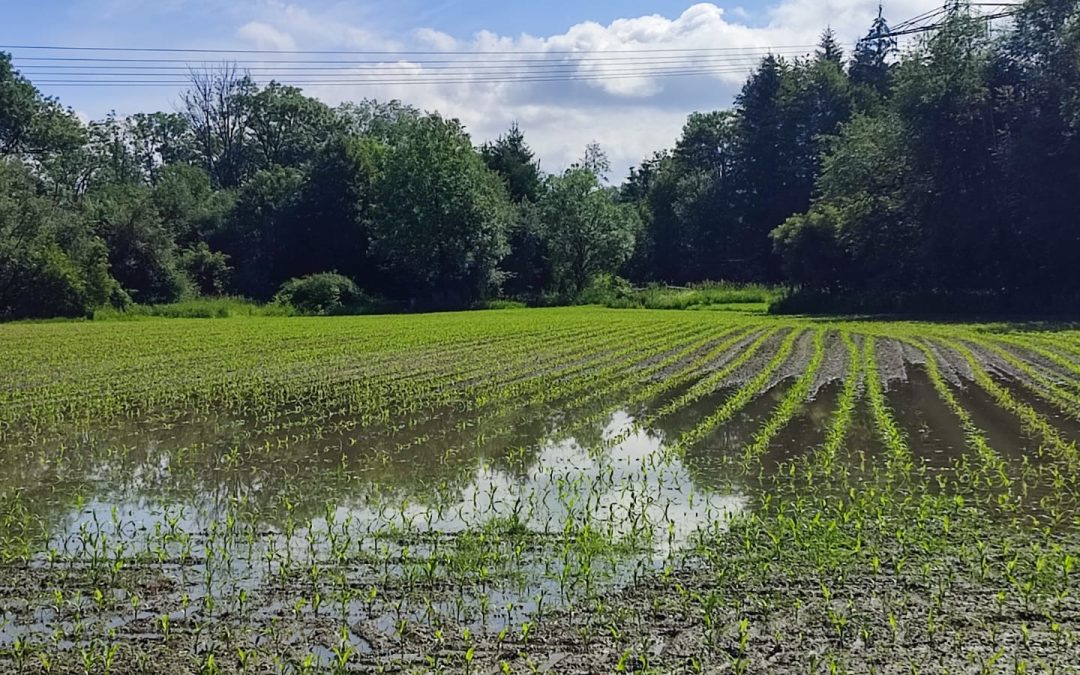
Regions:
[[1080, 159], [1065, 112], [1066, 83], [1080, 82], [1075, 12], [1071, 1], [1025, 3], [995, 40], [957, 5], [895, 64], [879, 18], [851, 69], [877, 98], [831, 144], [809, 212], [773, 232], [799, 288], [789, 309], [1075, 301], [1080, 276], [1066, 258], [1078, 249], [1063, 226]]

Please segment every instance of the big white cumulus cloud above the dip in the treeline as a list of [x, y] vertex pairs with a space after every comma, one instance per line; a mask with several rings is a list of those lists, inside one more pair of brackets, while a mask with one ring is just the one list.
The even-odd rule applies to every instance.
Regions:
[[[895, 0], [891, 6], [899, 19], [939, 2]], [[769, 10], [764, 24], [751, 25], [745, 12], [729, 15], [724, 8], [703, 2], [676, 17], [627, 17], [607, 25], [584, 22], [552, 36], [508, 37], [481, 31], [455, 38], [426, 27], [415, 30], [413, 37], [429, 48], [498, 53], [490, 60], [544, 58], [545, 64], [563, 64], [549, 72], [580, 79], [491, 83], [477, 81], [491, 79], [486, 75], [473, 75], [465, 77], [471, 81], [453, 84], [309, 91], [332, 103], [401, 98], [462, 120], [477, 141], [497, 136], [517, 121], [549, 171], [573, 162], [586, 143], [596, 140], [611, 156], [616, 171], [624, 173], [653, 151], [672, 146], [689, 112], [730, 106], [739, 86], [768, 51], [786, 56], [807, 54], [827, 26], [843, 42], [853, 44], [876, 12], [876, 3], [867, 0], [782, 0]], [[597, 52], [616, 54], [597, 57]], [[616, 57], [608, 57], [612, 55]], [[422, 63], [397, 65], [415, 72], [417, 79], [438, 77]], [[687, 75], [701, 70], [707, 72]]]

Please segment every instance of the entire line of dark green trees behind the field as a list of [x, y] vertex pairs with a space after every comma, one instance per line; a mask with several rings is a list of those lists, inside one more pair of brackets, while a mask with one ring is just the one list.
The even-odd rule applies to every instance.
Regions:
[[880, 16], [850, 56], [826, 31], [618, 187], [596, 146], [548, 175], [516, 125], [477, 148], [437, 113], [228, 66], [174, 112], [83, 124], [0, 54], [0, 318], [554, 303], [612, 274], [786, 283], [791, 310], [1072, 310], [1078, 2], [1028, 0], [993, 33], [958, 3], [903, 53]]

